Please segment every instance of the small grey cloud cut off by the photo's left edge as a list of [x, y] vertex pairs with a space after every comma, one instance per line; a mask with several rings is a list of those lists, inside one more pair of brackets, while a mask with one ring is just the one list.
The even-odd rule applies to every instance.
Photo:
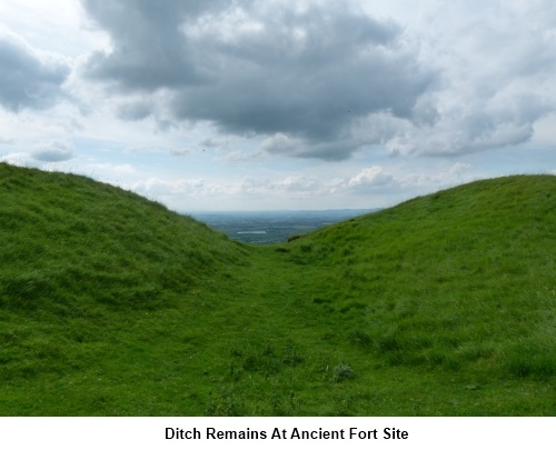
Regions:
[[69, 66], [9, 32], [0, 32], [0, 106], [11, 112], [48, 109], [64, 97]]

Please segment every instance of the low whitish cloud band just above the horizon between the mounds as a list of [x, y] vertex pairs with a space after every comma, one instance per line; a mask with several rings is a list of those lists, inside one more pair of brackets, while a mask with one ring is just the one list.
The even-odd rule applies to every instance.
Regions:
[[[369, 166], [344, 177], [281, 173], [241, 178], [150, 178], [128, 188], [148, 197], [163, 199], [178, 209], [272, 209], [344, 204], [347, 208], [374, 208], [395, 204], [408, 198], [426, 194], [477, 179], [477, 172], [466, 162], [421, 167], [407, 172], [395, 167]], [[394, 201], [394, 203], [393, 203]], [[234, 208], [232, 208], [234, 209]]]

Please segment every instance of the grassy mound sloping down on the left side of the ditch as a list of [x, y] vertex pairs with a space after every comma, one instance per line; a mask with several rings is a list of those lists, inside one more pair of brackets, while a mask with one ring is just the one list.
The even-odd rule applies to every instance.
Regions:
[[83, 177], [0, 164], [0, 298], [12, 311], [157, 310], [245, 254], [202, 223]]

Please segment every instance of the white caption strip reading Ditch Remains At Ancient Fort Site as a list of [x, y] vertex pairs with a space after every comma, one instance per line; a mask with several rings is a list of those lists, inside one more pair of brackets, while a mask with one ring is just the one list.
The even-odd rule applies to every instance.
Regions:
[[[193, 430], [201, 439], [166, 439], [166, 428]], [[265, 431], [267, 439], [207, 439], [206, 431]], [[290, 436], [344, 430], [344, 439], [271, 439], [275, 428]], [[370, 439], [349, 439], [349, 430]], [[385, 439], [384, 429], [407, 431]], [[377, 430], [377, 439], [374, 439]], [[554, 449], [556, 418], [0, 418], [2, 448], [19, 449]], [[317, 433], [318, 434], [318, 433]], [[401, 432], [399, 433], [403, 434]]]

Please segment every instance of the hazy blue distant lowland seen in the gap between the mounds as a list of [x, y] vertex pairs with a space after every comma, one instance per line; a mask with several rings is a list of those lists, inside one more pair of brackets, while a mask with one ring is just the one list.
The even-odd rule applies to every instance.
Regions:
[[229, 238], [247, 243], [284, 242], [289, 237], [337, 223], [377, 209], [322, 211], [218, 211], [190, 216]]

